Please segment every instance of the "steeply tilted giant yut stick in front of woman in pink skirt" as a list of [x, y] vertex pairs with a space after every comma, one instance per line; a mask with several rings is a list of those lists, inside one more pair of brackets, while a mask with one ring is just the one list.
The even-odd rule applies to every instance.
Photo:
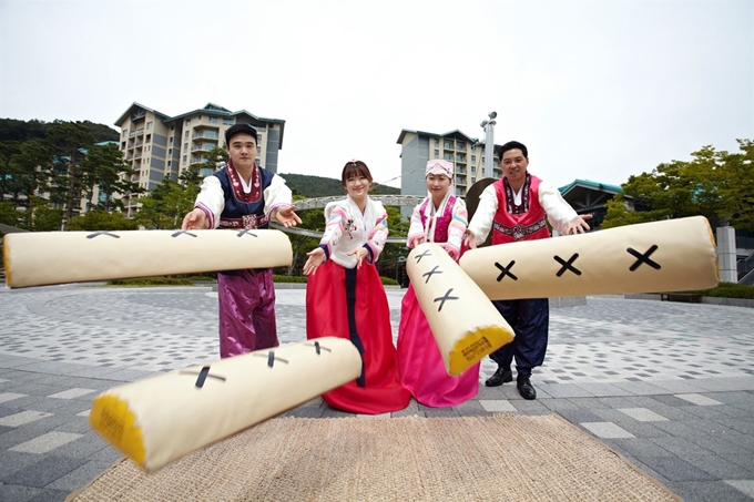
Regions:
[[513, 339], [508, 322], [442, 247], [417, 246], [406, 272], [448, 375], [462, 373]]

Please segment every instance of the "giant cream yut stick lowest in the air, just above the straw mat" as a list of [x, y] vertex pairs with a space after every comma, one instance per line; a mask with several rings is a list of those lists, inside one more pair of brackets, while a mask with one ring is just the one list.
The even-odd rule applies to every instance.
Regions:
[[146, 471], [358, 378], [361, 356], [324, 337], [114, 387], [89, 423]]

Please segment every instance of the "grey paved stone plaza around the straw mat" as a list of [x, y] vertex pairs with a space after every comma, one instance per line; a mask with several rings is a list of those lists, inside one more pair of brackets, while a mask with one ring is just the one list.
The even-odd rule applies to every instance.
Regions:
[[[396, 335], [404, 293], [388, 289]], [[281, 342], [305, 338], [304, 297], [277, 290]], [[0, 501], [62, 501], [119, 459], [88, 426], [93, 397], [217, 359], [216, 298], [208, 287], [0, 289]], [[536, 401], [481, 383], [457, 408], [411, 401], [393, 416], [554, 412], [686, 501], [754, 500], [754, 309], [589, 297], [552, 309], [550, 325]], [[493, 370], [486, 359], [480, 381]], [[348, 416], [320, 399], [288, 414]]]

